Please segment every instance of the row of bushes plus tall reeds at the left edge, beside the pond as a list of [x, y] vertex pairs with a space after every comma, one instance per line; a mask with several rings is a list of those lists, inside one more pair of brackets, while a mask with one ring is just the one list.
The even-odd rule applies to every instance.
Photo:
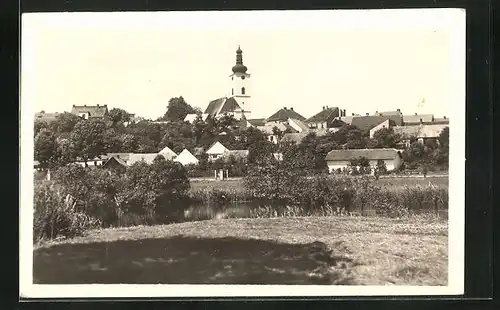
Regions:
[[162, 157], [124, 173], [68, 165], [54, 172], [51, 183], [35, 186], [35, 241], [75, 236], [90, 227], [174, 221], [190, 187], [182, 165]]

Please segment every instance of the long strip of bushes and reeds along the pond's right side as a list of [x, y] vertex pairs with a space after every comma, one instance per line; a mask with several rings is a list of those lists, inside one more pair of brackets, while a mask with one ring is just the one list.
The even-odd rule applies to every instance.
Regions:
[[401, 217], [438, 212], [448, 207], [448, 190], [432, 183], [394, 191], [381, 188], [373, 181], [374, 178], [366, 175], [305, 176], [296, 174], [286, 165], [267, 162], [253, 170], [244, 184], [251, 197], [267, 201], [275, 211], [284, 206], [298, 206], [301, 214], [316, 214], [321, 210], [319, 213], [324, 214], [324, 210], [335, 210], [364, 215], [370, 210], [379, 215]]

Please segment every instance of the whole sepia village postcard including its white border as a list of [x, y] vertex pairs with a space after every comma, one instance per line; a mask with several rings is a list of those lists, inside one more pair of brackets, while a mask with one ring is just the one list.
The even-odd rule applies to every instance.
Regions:
[[23, 297], [463, 293], [464, 10], [21, 22]]

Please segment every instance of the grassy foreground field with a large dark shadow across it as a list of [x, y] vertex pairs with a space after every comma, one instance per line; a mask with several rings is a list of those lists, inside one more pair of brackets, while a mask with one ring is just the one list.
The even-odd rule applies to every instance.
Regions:
[[446, 285], [447, 223], [304, 217], [91, 231], [39, 246], [34, 283]]

